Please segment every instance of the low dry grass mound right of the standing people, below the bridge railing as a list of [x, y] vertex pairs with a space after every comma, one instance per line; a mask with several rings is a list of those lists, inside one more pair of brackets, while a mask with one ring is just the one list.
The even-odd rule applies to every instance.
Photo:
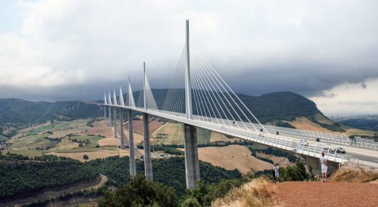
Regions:
[[344, 164], [330, 176], [330, 181], [347, 181], [365, 183], [378, 179], [378, 170], [370, 170], [361, 166]]

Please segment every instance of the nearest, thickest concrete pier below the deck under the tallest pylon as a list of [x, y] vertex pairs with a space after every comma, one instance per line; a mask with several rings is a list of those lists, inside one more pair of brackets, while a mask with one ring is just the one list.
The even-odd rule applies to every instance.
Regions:
[[199, 181], [197, 128], [184, 124], [186, 188], [195, 188]]

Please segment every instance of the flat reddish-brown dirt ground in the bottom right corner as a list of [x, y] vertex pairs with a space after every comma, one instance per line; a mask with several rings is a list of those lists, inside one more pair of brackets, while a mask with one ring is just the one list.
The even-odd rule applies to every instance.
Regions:
[[377, 206], [378, 184], [283, 182], [276, 185], [280, 206]]

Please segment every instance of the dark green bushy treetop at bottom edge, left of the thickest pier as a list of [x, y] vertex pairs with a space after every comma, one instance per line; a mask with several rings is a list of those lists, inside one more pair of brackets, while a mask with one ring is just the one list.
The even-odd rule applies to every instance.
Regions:
[[177, 206], [177, 195], [173, 188], [137, 175], [114, 192], [108, 191], [99, 206]]

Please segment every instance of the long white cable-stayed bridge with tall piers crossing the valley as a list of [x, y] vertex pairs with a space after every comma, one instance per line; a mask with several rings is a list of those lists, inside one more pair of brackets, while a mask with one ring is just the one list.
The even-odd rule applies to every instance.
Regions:
[[[232, 71], [230, 71], [232, 72]], [[189, 21], [186, 21], [186, 43], [177, 63], [175, 75], [170, 84], [163, 106], [157, 106], [146, 75], [143, 63], [143, 86], [137, 103], [132, 95], [130, 77], [127, 96], [119, 88], [110, 95], [104, 95], [104, 116], [109, 118], [109, 126], [114, 126], [115, 137], [118, 131], [121, 138], [121, 149], [124, 149], [123, 111], [128, 110], [130, 175], [136, 175], [135, 147], [132, 137], [132, 111], [143, 113], [143, 147], [145, 175], [152, 179], [152, 162], [150, 150], [149, 116], [163, 117], [184, 124], [184, 146], [186, 159], [186, 185], [194, 188], [199, 177], [199, 161], [197, 149], [197, 128], [219, 132], [232, 137], [246, 139], [273, 148], [295, 152], [306, 158], [312, 169], [320, 169], [319, 157], [325, 152], [330, 163], [330, 170], [335, 170], [338, 164], [346, 161], [359, 162], [378, 168], [377, 162], [364, 161], [355, 157], [345, 156], [336, 150], [332, 152], [329, 144], [337, 144], [348, 150], [361, 151], [366, 156], [377, 157], [378, 144], [374, 140], [350, 139], [346, 135], [337, 135], [308, 130], [296, 130], [267, 126], [260, 123], [250, 108], [246, 106], [237, 94], [222, 79], [210, 63], [190, 47]], [[120, 129], [117, 129], [117, 113], [120, 117]], [[319, 139], [319, 143], [309, 144], [301, 140]], [[221, 155], [219, 155], [221, 156]], [[332, 167], [333, 164], [333, 167]], [[316, 171], [315, 171], [316, 172]]]

